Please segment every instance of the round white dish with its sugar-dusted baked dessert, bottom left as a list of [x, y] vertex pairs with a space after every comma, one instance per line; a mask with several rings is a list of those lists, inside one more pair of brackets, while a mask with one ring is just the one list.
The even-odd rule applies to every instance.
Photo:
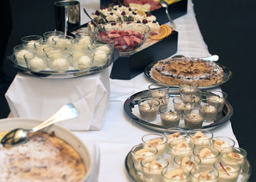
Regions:
[[[40, 120], [1, 120], [0, 139], [14, 128], [33, 128]], [[14, 146], [0, 144], [2, 181], [87, 181], [92, 169], [88, 148], [60, 126], [29, 133]]]

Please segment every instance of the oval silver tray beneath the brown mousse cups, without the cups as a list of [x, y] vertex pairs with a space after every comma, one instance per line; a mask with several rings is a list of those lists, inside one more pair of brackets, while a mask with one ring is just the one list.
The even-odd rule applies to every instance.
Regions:
[[[170, 96], [170, 98], [180, 96], [179, 89], [178, 88], [170, 88], [169, 96]], [[142, 98], [146, 98], [146, 97], [149, 97], [149, 90], [140, 91], [140, 92], [135, 93], [131, 97], [128, 97], [124, 103], [125, 113], [128, 115], [129, 118], [131, 118], [132, 121], [134, 121], [138, 125], [148, 128], [149, 130], [156, 131], [156, 132], [163, 132], [164, 130], [166, 130], [169, 127], [162, 126], [161, 119], [159, 116], [157, 116], [157, 119], [152, 122], [143, 120], [139, 117], [137, 103], [139, 100], [141, 100]], [[231, 118], [232, 114], [233, 114], [233, 108], [232, 108], [231, 104], [226, 101], [223, 111], [222, 111], [222, 114], [219, 115], [217, 120], [213, 123], [205, 123], [204, 122], [202, 128], [208, 129], [208, 130], [216, 129], [216, 127], [222, 126], [222, 124], [226, 123]], [[181, 129], [191, 130], [189, 128], [186, 128], [185, 126], [179, 126], [179, 127]]]

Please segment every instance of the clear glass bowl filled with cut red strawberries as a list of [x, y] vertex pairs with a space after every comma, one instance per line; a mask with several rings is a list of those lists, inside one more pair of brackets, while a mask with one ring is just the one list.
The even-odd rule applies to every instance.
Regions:
[[144, 44], [149, 37], [150, 28], [143, 23], [109, 22], [94, 28], [96, 38], [112, 39], [120, 56], [129, 56]]

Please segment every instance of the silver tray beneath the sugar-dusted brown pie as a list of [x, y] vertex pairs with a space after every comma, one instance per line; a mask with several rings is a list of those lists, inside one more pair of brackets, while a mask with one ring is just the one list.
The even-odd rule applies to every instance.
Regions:
[[[162, 84], [161, 81], [158, 81], [157, 79], [154, 78], [154, 76], [151, 74], [151, 69], [154, 67], [154, 65], [157, 62], [152, 62], [150, 63], [145, 69], [144, 69], [144, 74], [146, 76], [147, 79], [149, 79], [150, 81], [154, 82], [154, 83], [158, 83], [158, 84]], [[215, 62], [218, 66], [220, 66], [223, 69], [223, 79], [222, 82], [216, 85], [210, 85], [210, 86], [201, 86], [199, 87], [199, 89], [210, 89], [210, 88], [214, 88], [216, 86], [222, 85], [226, 82], [229, 81], [229, 79], [231, 79], [232, 77], [232, 72], [230, 71], [229, 68], [223, 66], [220, 63]], [[178, 87], [178, 85], [169, 85], [171, 87]]]

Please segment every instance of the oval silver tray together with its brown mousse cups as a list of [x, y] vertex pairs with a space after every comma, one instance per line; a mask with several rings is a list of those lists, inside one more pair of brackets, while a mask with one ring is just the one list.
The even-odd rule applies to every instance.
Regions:
[[233, 114], [228, 95], [224, 91], [191, 87], [194, 84], [184, 82], [179, 88], [149, 85], [149, 90], [137, 92], [125, 100], [125, 114], [138, 125], [156, 132], [169, 127], [213, 130], [222, 126]]

